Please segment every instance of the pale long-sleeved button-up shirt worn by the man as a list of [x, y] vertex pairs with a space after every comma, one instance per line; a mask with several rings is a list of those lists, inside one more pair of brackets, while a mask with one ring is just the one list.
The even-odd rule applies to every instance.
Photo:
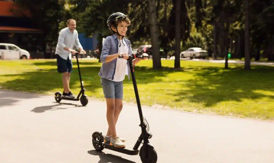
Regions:
[[71, 52], [64, 50], [64, 48], [67, 47], [73, 49], [74, 46], [76, 46], [77, 49], [83, 48], [79, 42], [77, 30], [71, 32], [68, 27], [63, 28], [59, 32], [55, 54], [58, 54], [65, 60], [67, 60], [67, 57], [71, 60]]

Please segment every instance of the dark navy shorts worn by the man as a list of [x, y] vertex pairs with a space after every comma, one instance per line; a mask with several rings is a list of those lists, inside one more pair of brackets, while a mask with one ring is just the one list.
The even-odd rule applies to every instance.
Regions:
[[59, 73], [64, 73], [64, 72], [72, 72], [72, 61], [67, 57], [67, 59], [63, 59], [60, 57], [58, 54], [56, 54], [56, 59], [57, 59], [57, 71]]

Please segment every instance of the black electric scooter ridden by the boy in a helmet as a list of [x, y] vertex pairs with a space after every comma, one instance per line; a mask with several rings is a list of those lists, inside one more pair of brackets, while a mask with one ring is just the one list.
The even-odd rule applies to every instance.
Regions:
[[[151, 139], [152, 134], [149, 132], [149, 125], [146, 124], [147, 120], [143, 117], [141, 103], [140, 103], [140, 99], [139, 99], [139, 93], [138, 93], [138, 89], [137, 89], [137, 83], [136, 83], [135, 74], [134, 74], [134, 68], [132, 65], [133, 59], [144, 58], [144, 57], [149, 58], [149, 56], [142, 56], [139, 53], [136, 53], [136, 54], [129, 56], [129, 58], [127, 59], [130, 63], [129, 66], [130, 66], [130, 71], [131, 71], [131, 77], [132, 77], [137, 107], [138, 107], [138, 111], [139, 111], [139, 117], [140, 117], [140, 121], [141, 121], [139, 126], [141, 127], [141, 130], [142, 130], [142, 133], [140, 134], [133, 149], [117, 148], [117, 147], [110, 145], [109, 143], [104, 143], [104, 135], [102, 132], [99, 132], [99, 131], [96, 131], [92, 134], [92, 144], [93, 144], [93, 147], [97, 151], [102, 151], [104, 148], [106, 148], [106, 149], [110, 149], [110, 150], [113, 150], [116, 152], [125, 153], [127, 155], [138, 155], [138, 153], [139, 153], [139, 156], [143, 163], [156, 163], [157, 162], [157, 153], [156, 153], [156, 150], [154, 149], [153, 145], [148, 141], [148, 139]], [[123, 58], [123, 56], [120, 55], [119, 58]], [[146, 123], [145, 123], [145, 121], [146, 121]], [[148, 128], [147, 128], [147, 125], [148, 125]], [[140, 150], [138, 150], [141, 143], [143, 145], [140, 148]]]

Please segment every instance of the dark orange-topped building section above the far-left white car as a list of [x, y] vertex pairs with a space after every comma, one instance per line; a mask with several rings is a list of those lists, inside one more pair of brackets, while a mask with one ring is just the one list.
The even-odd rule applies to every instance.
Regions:
[[[11, 43], [30, 52], [32, 58], [37, 58], [39, 51], [42, 51], [42, 31], [36, 29], [30, 21], [30, 13], [23, 11], [19, 14], [14, 0], [0, 0], [0, 42]], [[37, 52], [38, 51], [38, 52]]]

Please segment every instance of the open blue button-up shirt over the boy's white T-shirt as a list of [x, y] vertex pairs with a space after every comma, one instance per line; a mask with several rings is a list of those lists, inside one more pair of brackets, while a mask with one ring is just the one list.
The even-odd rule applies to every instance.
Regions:
[[[119, 42], [120, 41], [120, 42]], [[128, 39], [124, 38], [124, 41], [128, 47], [128, 55], [132, 55], [131, 43]], [[122, 40], [119, 40], [118, 37], [113, 34], [112, 36], [107, 36], [102, 48], [102, 53], [100, 57], [100, 61], [103, 63], [101, 69], [99, 71], [99, 76], [105, 79], [114, 79], [115, 69], [116, 69], [116, 60], [112, 60], [111, 62], [106, 62], [107, 55], [112, 55], [118, 53], [118, 45], [123, 44]], [[129, 62], [127, 61], [127, 70], [128, 70], [128, 80], [130, 80], [130, 67]]]

